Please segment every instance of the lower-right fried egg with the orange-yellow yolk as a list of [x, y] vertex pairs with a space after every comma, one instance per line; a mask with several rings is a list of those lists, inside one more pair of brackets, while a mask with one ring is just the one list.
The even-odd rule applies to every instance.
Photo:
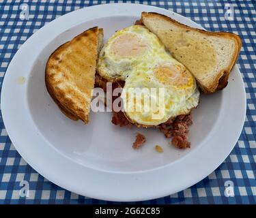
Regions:
[[155, 65], [147, 71], [136, 69], [122, 91], [124, 112], [132, 123], [154, 126], [181, 114], [199, 103], [195, 78], [175, 61]]

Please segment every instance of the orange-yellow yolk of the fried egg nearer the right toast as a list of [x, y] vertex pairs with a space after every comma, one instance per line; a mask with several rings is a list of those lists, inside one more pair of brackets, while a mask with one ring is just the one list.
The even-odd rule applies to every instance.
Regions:
[[179, 88], [193, 86], [193, 76], [179, 65], [156, 67], [154, 74], [159, 82]]

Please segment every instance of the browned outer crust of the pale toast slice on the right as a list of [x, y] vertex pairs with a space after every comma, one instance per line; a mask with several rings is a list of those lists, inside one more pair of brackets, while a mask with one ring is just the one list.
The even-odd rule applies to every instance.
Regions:
[[[234, 33], [228, 33], [228, 32], [208, 32], [202, 29], [196, 29], [193, 27], [188, 27], [186, 25], [181, 24], [180, 22], [177, 22], [176, 20], [173, 20], [172, 18], [169, 18], [168, 16], [158, 14], [155, 12], [142, 12], [141, 13], [141, 22], [143, 23], [143, 18], [146, 17], [153, 17], [153, 18], [161, 18], [163, 20], [167, 20], [168, 22], [172, 22], [173, 24], [177, 25], [178, 27], [182, 27], [184, 29], [188, 30], [193, 30], [193, 31], [198, 31], [199, 33], [204, 33], [206, 35], [214, 35], [214, 36], [221, 36], [221, 37], [226, 37], [226, 38], [232, 38], [236, 40], [237, 44], [237, 49], [236, 49], [236, 55], [233, 56], [233, 59], [231, 60], [231, 64], [224, 69], [222, 72], [219, 72], [218, 76], [216, 76], [216, 81], [214, 81], [214, 86], [212, 87], [203, 87], [201, 86], [201, 90], [204, 93], [214, 93], [215, 91], [221, 90], [227, 86], [228, 78], [229, 78], [229, 72], [233, 68], [233, 65], [235, 65], [238, 55], [242, 46], [242, 41], [240, 39], [239, 35], [236, 35]], [[140, 23], [137, 21], [137, 23]]]

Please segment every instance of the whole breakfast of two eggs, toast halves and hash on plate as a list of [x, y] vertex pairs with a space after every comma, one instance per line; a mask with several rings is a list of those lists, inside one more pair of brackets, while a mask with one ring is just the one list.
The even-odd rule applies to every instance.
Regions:
[[[89, 121], [92, 90], [122, 88], [122, 110], [113, 109], [120, 127], [160, 129], [171, 144], [190, 147], [191, 110], [200, 92], [227, 86], [241, 40], [233, 33], [213, 33], [187, 27], [152, 12], [143, 12], [134, 25], [116, 31], [102, 46], [103, 31], [94, 27], [63, 44], [46, 64], [46, 87], [70, 119]], [[137, 134], [138, 149], [145, 136]], [[162, 152], [160, 146], [156, 151]]]

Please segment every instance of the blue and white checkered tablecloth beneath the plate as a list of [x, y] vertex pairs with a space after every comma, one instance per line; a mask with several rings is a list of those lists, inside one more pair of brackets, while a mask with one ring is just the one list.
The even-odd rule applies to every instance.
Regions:
[[[122, 1], [0, 0], [0, 82], [18, 48], [35, 31], [68, 12], [100, 3]], [[186, 0], [124, 1], [173, 10], [210, 31], [231, 31], [242, 37], [238, 66], [246, 87], [247, 112], [235, 148], [212, 174], [189, 189], [143, 204], [255, 204], [256, 202], [256, 1]], [[29, 5], [29, 20], [20, 19], [20, 5]], [[225, 19], [233, 5], [233, 20]], [[225, 5], [226, 4], [226, 5]], [[229, 5], [229, 6], [230, 6]], [[108, 204], [66, 191], [35, 172], [14, 149], [0, 117], [0, 204]], [[29, 197], [20, 197], [20, 181], [29, 181]], [[229, 197], [225, 189], [233, 185]], [[226, 186], [225, 186], [226, 185]], [[230, 189], [229, 189], [230, 190]], [[230, 196], [231, 195], [231, 196]]]

